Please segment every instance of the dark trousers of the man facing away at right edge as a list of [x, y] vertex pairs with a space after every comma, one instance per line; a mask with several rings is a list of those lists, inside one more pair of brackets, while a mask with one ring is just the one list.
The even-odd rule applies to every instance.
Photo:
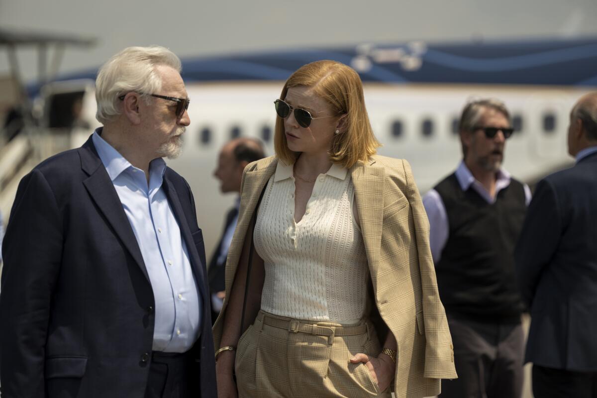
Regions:
[[597, 398], [597, 372], [573, 372], [533, 364], [535, 398]]

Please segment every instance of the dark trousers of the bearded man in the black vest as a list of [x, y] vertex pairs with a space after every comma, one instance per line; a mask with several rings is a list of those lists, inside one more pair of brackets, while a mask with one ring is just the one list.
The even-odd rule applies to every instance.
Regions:
[[481, 323], [448, 315], [458, 378], [442, 380], [441, 398], [519, 398], [524, 333], [520, 323]]

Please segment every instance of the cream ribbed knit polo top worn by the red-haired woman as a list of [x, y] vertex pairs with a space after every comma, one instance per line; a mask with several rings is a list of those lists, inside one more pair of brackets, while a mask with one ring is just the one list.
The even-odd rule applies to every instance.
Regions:
[[254, 242], [265, 263], [263, 311], [351, 325], [365, 313], [369, 269], [353, 216], [355, 187], [334, 164], [320, 174], [294, 221], [293, 166], [278, 162], [257, 212]]

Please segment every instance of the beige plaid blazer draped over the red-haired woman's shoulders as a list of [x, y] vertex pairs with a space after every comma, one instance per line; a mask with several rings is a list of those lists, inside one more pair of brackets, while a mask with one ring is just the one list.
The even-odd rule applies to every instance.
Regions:
[[[226, 263], [226, 298], [261, 191], [276, 171], [274, 156], [250, 163], [241, 184], [238, 224]], [[396, 398], [438, 395], [456, 378], [454, 350], [429, 249], [429, 221], [410, 165], [371, 156], [350, 168], [377, 309], [396, 337]], [[214, 325], [220, 348], [223, 314]]]

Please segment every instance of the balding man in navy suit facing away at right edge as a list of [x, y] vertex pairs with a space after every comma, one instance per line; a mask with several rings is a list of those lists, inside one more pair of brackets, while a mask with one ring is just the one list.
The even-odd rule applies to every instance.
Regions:
[[515, 252], [536, 398], [597, 397], [597, 92], [570, 114], [568, 152], [576, 165], [537, 184]]

